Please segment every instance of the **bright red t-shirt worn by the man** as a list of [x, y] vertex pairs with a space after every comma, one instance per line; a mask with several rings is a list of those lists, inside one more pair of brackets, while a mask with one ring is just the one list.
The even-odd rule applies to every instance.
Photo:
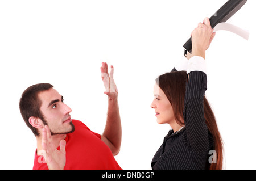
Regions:
[[[73, 133], [66, 134], [66, 165], [64, 170], [115, 170], [121, 169], [110, 150], [98, 133], [81, 121], [72, 120]], [[57, 148], [59, 149], [59, 148]], [[43, 156], [35, 152], [34, 170], [47, 170]]]

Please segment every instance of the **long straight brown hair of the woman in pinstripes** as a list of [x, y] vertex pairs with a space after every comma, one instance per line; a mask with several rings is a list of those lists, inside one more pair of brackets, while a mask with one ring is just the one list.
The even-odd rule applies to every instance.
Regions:
[[[187, 73], [185, 71], [172, 71], [160, 75], [156, 78], [156, 83], [166, 94], [174, 110], [174, 116], [177, 124], [184, 126], [183, 110], [184, 110], [184, 99], [187, 82]], [[210, 170], [221, 170], [222, 169], [222, 139], [220, 132], [218, 131], [216, 119], [212, 108], [208, 100], [204, 96], [204, 118], [207, 127], [212, 133], [214, 145], [213, 149], [216, 151], [216, 163], [210, 164]]]

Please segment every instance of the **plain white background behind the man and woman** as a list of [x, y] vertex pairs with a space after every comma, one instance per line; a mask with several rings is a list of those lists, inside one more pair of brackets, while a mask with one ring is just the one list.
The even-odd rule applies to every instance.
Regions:
[[[122, 169], [151, 169], [170, 128], [150, 104], [158, 75], [171, 71], [190, 33], [226, 1], [0, 1], [0, 169], [32, 169], [34, 134], [19, 112], [22, 92], [48, 82], [92, 131], [105, 128], [101, 62], [114, 66], [122, 119]], [[256, 169], [255, 7], [228, 20], [249, 41], [218, 31], [207, 51], [207, 98], [225, 146], [224, 169]]]

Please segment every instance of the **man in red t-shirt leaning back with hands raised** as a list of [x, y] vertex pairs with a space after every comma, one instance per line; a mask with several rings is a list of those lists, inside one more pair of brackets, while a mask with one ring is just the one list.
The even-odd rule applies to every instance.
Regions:
[[[101, 77], [108, 95], [108, 116], [102, 135], [71, 119], [71, 108], [52, 85], [40, 83], [23, 92], [20, 113], [37, 141], [33, 169], [121, 169], [114, 158], [120, 150], [122, 129], [113, 71], [112, 66], [109, 75], [108, 65], [102, 62]], [[52, 167], [52, 156], [63, 158], [61, 167]]]

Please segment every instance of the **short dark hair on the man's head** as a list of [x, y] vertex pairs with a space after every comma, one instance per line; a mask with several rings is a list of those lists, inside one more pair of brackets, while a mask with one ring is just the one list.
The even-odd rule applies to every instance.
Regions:
[[36, 85], [32, 85], [28, 87], [22, 94], [19, 100], [19, 110], [23, 117], [23, 120], [27, 124], [28, 128], [32, 130], [35, 136], [39, 136], [38, 129], [33, 127], [28, 119], [31, 116], [37, 117], [41, 119], [44, 124], [47, 124], [44, 120], [43, 113], [40, 111], [40, 107], [42, 105], [42, 101], [38, 98], [39, 92], [49, 90], [53, 86], [49, 83], [38, 83]]

